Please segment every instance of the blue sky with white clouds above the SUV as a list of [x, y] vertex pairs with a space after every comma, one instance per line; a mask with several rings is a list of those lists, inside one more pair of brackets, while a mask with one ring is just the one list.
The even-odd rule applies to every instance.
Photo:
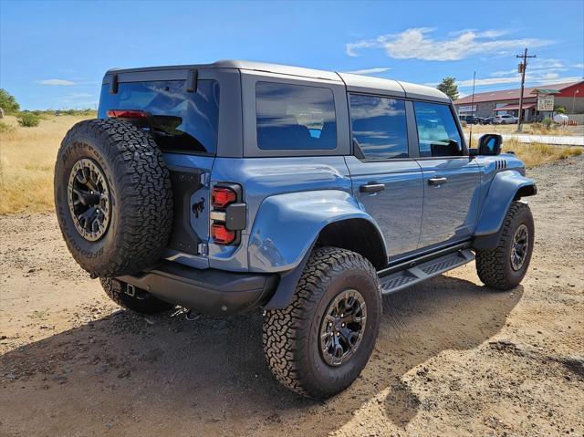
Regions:
[[0, 87], [23, 109], [94, 107], [114, 67], [239, 58], [358, 71], [461, 94], [584, 76], [584, 1], [0, 0]]

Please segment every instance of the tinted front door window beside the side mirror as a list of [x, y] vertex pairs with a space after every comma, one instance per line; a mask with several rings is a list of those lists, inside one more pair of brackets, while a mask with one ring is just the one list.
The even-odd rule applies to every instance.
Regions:
[[413, 103], [418, 125], [420, 156], [459, 156], [463, 142], [450, 107], [437, 103]]

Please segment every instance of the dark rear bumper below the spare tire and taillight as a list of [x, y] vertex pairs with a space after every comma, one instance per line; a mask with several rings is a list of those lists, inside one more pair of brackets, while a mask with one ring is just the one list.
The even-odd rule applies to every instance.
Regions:
[[260, 307], [274, 294], [279, 276], [200, 270], [163, 262], [140, 276], [118, 279], [166, 302], [217, 316]]

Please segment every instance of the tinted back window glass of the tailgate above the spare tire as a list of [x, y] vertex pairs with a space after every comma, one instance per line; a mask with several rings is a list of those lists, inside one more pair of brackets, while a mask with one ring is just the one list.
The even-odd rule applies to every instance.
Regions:
[[104, 85], [99, 118], [110, 109], [140, 109], [148, 114], [145, 130], [151, 130], [164, 151], [214, 154], [217, 149], [219, 84], [199, 80], [197, 92], [186, 92], [184, 80], [120, 83], [110, 94]]

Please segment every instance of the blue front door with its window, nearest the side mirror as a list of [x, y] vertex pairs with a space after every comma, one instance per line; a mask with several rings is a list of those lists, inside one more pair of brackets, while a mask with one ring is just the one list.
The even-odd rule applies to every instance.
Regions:
[[423, 177], [420, 248], [470, 238], [478, 215], [480, 172], [469, 158], [450, 105], [415, 101]]

